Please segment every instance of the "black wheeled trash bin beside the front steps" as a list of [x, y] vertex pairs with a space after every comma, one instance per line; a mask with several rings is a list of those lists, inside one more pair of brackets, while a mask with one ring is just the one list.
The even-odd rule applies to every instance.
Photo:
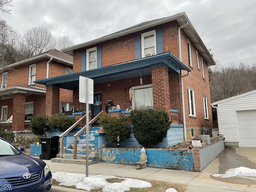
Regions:
[[55, 158], [58, 154], [59, 148], [59, 136], [48, 136], [41, 137], [42, 154], [39, 156], [40, 159], [50, 160]]

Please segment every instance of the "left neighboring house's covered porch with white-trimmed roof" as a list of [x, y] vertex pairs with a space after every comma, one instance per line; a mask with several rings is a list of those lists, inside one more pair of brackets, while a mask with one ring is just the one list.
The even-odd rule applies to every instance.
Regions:
[[31, 86], [12, 86], [0, 89], [1, 120], [5, 130], [30, 130], [30, 120], [44, 113], [46, 89]]

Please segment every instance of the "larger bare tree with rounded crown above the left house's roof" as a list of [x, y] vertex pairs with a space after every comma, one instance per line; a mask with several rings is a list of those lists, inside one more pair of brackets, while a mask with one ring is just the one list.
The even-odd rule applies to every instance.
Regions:
[[25, 58], [42, 54], [56, 48], [57, 40], [46, 27], [36, 26], [29, 29], [20, 43], [20, 50]]

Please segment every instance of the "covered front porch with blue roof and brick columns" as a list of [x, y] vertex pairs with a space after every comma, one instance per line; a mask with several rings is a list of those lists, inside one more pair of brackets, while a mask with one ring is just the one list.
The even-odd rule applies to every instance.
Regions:
[[182, 124], [182, 121], [178, 121], [182, 119], [181, 70], [190, 71], [174, 55], [166, 52], [94, 70], [37, 80], [35, 83], [46, 86], [48, 114], [60, 112], [60, 88], [73, 90], [75, 110], [85, 109], [85, 104], [79, 102], [79, 76], [84, 76], [94, 80], [94, 104], [90, 106], [93, 116], [112, 106], [123, 110], [150, 107], [167, 111], [170, 118], [170, 110], [178, 111], [176, 123]]

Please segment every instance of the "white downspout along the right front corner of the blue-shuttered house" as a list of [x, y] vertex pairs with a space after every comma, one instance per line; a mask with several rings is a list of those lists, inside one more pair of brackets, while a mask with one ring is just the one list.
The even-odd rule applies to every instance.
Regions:
[[[188, 25], [188, 22], [186, 24], [180, 26], [178, 28], [178, 46], [179, 46], [179, 59], [180, 62], [182, 62], [181, 57], [181, 40], [180, 40], [180, 29], [184, 28]], [[182, 103], [182, 116], [183, 116], [183, 129], [184, 129], [184, 140], [187, 141], [187, 131], [186, 131], [186, 118], [185, 118], [185, 105], [184, 105], [184, 90], [183, 90], [183, 78], [188, 76], [190, 72], [188, 72], [186, 75], [182, 76], [182, 70], [180, 70], [180, 84], [181, 84], [181, 103]]]

